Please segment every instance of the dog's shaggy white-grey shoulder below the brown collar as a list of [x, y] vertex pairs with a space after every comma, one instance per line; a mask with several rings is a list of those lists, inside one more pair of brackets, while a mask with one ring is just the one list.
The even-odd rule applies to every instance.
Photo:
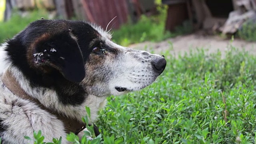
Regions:
[[[33, 138], [33, 132], [42, 130], [46, 141], [65, 136], [60, 120], [29, 100], [23, 100], [0, 82], [0, 137], [3, 144], [30, 143], [24, 136]], [[62, 133], [56, 133], [62, 132]]]

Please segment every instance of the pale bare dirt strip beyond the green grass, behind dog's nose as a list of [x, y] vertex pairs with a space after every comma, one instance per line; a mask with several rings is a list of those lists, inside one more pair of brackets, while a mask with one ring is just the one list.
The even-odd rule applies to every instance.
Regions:
[[[170, 50], [170, 42], [173, 44], [173, 50]], [[178, 36], [176, 38], [170, 38], [162, 42], [143, 42], [139, 44], [132, 44], [129, 47], [138, 50], [147, 50], [154, 48], [154, 53], [161, 54], [166, 50], [170, 50], [170, 54], [184, 54], [190, 49], [203, 48], [208, 49], [208, 53], [217, 52], [221, 50], [225, 52], [228, 50], [228, 45], [231, 44], [230, 40], [224, 40], [220, 36], [204, 36], [202, 34], [194, 33], [186, 36]], [[256, 54], [256, 42], [246, 42], [240, 39], [234, 39], [232, 46], [236, 48], [244, 48], [246, 51], [250, 51], [252, 54]], [[146, 47], [146, 49], [145, 49]]]

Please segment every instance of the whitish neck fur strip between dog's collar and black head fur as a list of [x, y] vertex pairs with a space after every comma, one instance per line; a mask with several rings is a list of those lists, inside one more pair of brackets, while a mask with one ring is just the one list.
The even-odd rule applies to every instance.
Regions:
[[85, 106], [88, 106], [91, 110], [90, 122], [94, 122], [97, 118], [98, 110], [106, 103], [106, 97], [96, 97], [89, 94], [86, 96], [86, 100], [80, 105], [62, 104], [55, 90], [44, 87], [31, 87], [29, 80], [18, 68], [10, 66], [8, 70], [10, 70], [10, 73], [20, 84], [20, 88], [22, 88], [26, 94], [37, 99], [46, 108], [56, 110], [56, 112], [69, 118], [74, 118], [80, 122], [82, 122], [82, 117], [87, 114]]

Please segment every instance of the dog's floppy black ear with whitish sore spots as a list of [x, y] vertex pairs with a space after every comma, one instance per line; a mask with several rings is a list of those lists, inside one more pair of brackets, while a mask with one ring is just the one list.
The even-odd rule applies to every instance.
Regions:
[[85, 77], [82, 52], [69, 29], [43, 34], [31, 45], [27, 57], [36, 68], [55, 68], [71, 82], [81, 82]]

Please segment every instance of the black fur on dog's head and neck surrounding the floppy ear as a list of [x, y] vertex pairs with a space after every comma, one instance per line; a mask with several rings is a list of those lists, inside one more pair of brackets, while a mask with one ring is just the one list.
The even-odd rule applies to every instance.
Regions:
[[32, 22], [16, 37], [8, 40], [6, 51], [9, 60], [23, 72], [32, 87], [53, 88], [56, 90], [62, 104], [80, 105], [87, 95], [82, 86], [76, 82], [66, 80], [58, 70], [53, 69], [50, 74], [46, 74], [31, 68], [26, 59], [28, 47], [42, 34], [68, 29], [78, 38], [78, 45], [81, 49], [84, 63], [86, 63], [92, 49], [89, 48], [89, 44], [93, 39], [98, 38], [99, 34], [90, 24], [82, 21], [38, 20]]

